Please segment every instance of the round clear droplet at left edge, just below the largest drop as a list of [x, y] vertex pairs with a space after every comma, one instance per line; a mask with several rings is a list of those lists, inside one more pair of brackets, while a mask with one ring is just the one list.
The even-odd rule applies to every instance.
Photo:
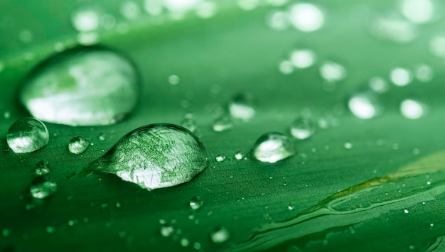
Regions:
[[39, 150], [49, 141], [49, 133], [43, 122], [25, 118], [9, 127], [6, 141], [14, 153], [30, 153]]

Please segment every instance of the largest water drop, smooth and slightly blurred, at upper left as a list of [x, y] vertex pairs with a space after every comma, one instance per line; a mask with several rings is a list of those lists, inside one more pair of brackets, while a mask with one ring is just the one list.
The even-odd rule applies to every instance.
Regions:
[[31, 73], [20, 99], [33, 116], [70, 126], [114, 124], [134, 109], [138, 75], [127, 58], [102, 48], [51, 57]]

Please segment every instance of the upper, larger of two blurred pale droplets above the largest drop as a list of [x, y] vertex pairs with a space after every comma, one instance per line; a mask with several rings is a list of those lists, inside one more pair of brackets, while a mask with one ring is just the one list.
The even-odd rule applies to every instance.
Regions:
[[73, 12], [71, 23], [80, 32], [94, 31], [99, 27], [100, 14], [95, 8], [82, 8]]

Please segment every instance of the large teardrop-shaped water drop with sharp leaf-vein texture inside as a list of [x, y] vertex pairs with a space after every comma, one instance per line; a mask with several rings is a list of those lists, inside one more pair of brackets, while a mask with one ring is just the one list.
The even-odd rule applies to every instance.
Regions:
[[150, 124], [122, 137], [90, 169], [112, 173], [147, 190], [190, 181], [208, 167], [203, 143], [186, 128]]

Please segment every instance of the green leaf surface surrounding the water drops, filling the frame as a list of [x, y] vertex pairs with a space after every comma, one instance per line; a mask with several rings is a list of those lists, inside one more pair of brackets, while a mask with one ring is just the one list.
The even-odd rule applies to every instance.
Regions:
[[[0, 248], [431, 251], [439, 246], [437, 251], [444, 251], [444, 4], [310, 1], [324, 19], [314, 31], [304, 31], [314, 17], [310, 9], [297, 15], [302, 19], [294, 17], [291, 10], [299, 3], [304, 2], [0, 1]], [[95, 39], [86, 42], [73, 26], [73, 15], [85, 9], [101, 17], [88, 32]], [[112, 126], [47, 123], [48, 146], [13, 153], [6, 133], [14, 121], [30, 116], [17, 99], [28, 72], [51, 55], [91, 43], [134, 61], [141, 74], [136, 109]], [[291, 53], [299, 49], [313, 51], [313, 65], [292, 66]], [[326, 80], [320, 73], [325, 62], [343, 65], [344, 80]], [[427, 66], [427, 78], [419, 65]], [[409, 84], [392, 83], [395, 67], [407, 70]], [[171, 75], [179, 77], [178, 84], [168, 82]], [[348, 99], [372, 90], [372, 77], [386, 83], [384, 92], [372, 91], [382, 114], [360, 119], [348, 109]], [[230, 131], [213, 131], [213, 121], [238, 92], [253, 95], [256, 115], [235, 120]], [[423, 105], [419, 119], [401, 112], [405, 99]], [[292, 121], [307, 111], [316, 133], [304, 141], [293, 138], [293, 157], [275, 164], [234, 158], [237, 151], [249, 153], [263, 133], [289, 134]], [[188, 114], [210, 158], [210, 166], [191, 182], [149, 192], [114, 175], [68, 178], [132, 129], [181, 124]], [[74, 136], [94, 146], [74, 155], [67, 147]], [[217, 162], [217, 155], [226, 158]], [[58, 191], [36, 200], [29, 185], [41, 160], [50, 164]], [[406, 178], [357, 187], [406, 167], [414, 169]], [[285, 222], [348, 188], [341, 199], [350, 206], [344, 207], [362, 212], [327, 212], [336, 217], [316, 215], [306, 226]], [[196, 196], [203, 206], [192, 210], [188, 204]], [[163, 221], [175, 234], [161, 235]], [[210, 234], [220, 226], [230, 238], [216, 244]], [[260, 236], [269, 242], [249, 246], [259, 229], [266, 230]]]

